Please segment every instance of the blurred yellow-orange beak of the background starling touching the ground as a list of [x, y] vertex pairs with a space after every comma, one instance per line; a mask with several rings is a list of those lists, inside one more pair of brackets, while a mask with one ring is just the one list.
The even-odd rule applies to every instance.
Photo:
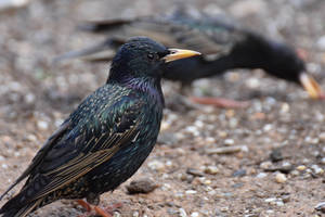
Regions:
[[299, 80], [311, 98], [321, 99], [324, 97], [320, 85], [310, 75], [301, 73]]

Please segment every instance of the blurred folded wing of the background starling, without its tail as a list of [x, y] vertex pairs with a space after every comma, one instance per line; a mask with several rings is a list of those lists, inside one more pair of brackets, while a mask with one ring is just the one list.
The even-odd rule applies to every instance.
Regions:
[[226, 54], [231, 48], [245, 38], [235, 23], [223, 17], [176, 11], [172, 15], [144, 16], [133, 20], [107, 20], [88, 22], [80, 26], [91, 33], [101, 33], [126, 40], [134, 36], [147, 36], [167, 47], [186, 48], [203, 54]]

